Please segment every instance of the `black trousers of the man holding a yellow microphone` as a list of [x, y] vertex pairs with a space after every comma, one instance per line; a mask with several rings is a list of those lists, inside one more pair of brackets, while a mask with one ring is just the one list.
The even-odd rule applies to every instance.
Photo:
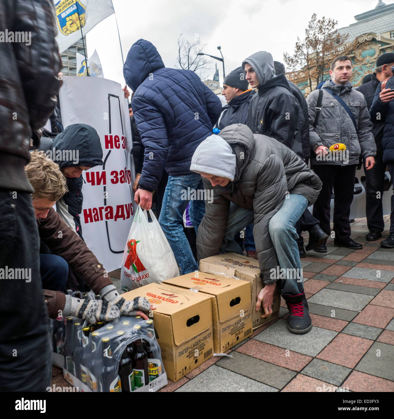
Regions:
[[313, 216], [320, 222], [322, 230], [330, 235], [330, 201], [334, 190], [334, 233], [335, 241], [351, 241], [349, 222], [350, 206], [353, 201], [354, 181], [357, 165], [316, 164], [313, 170], [322, 181], [322, 190], [313, 205]]

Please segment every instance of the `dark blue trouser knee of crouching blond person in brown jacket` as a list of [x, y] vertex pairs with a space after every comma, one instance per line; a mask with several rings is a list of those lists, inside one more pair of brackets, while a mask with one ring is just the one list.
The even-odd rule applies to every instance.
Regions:
[[40, 273], [44, 290], [63, 291], [69, 274], [69, 265], [61, 256], [41, 253]]

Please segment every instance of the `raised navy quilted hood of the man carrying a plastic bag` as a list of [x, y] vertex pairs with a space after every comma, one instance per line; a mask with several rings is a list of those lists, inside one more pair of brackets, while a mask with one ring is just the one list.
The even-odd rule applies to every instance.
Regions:
[[127, 85], [135, 92], [150, 73], [163, 67], [164, 62], [154, 44], [138, 39], [127, 54], [123, 75]]

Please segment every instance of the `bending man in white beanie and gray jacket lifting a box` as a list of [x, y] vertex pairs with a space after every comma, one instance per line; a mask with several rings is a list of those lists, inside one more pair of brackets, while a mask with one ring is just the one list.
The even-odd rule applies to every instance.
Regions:
[[242, 254], [234, 237], [254, 222], [264, 282], [256, 310], [262, 304], [263, 317], [272, 313], [279, 282], [290, 312], [289, 331], [310, 331], [295, 223], [319, 195], [318, 176], [284, 144], [253, 134], [243, 124], [229, 125], [220, 135], [207, 137], [194, 152], [190, 170], [200, 173], [205, 189], [210, 189], [198, 229], [198, 259], [226, 252]]

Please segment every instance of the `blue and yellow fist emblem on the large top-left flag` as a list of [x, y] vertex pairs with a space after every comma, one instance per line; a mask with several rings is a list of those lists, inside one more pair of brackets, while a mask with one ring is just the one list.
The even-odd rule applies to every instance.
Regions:
[[59, 0], [55, 3], [56, 21], [62, 34], [69, 35], [85, 26], [86, 7], [80, 0]]

